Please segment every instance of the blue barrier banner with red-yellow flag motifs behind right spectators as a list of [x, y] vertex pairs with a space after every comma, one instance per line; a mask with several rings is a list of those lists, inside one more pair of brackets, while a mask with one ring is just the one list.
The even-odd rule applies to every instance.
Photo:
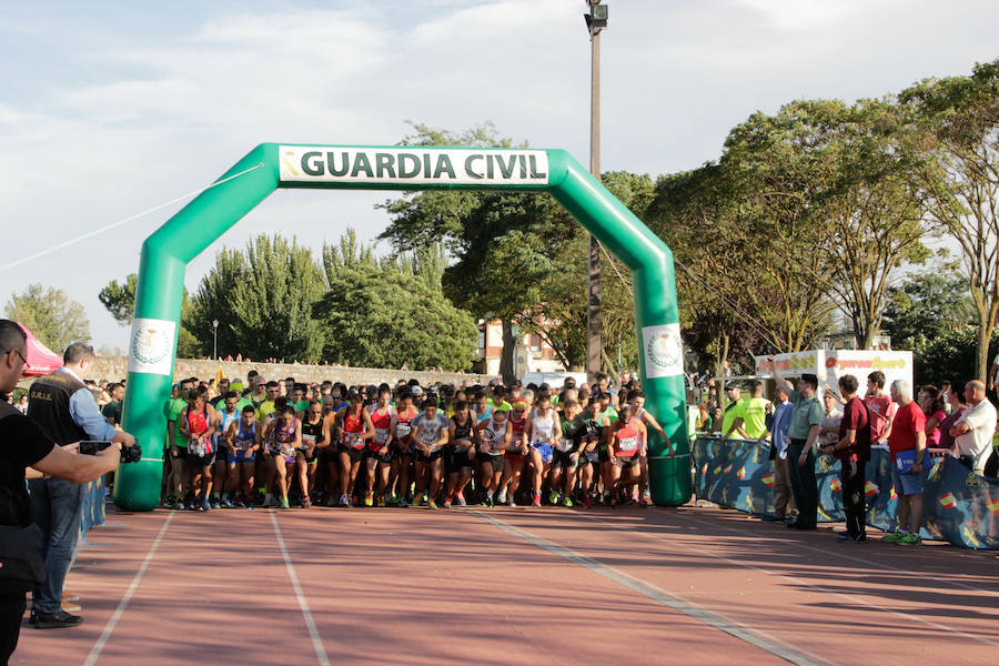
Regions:
[[[694, 442], [694, 492], [698, 500], [757, 515], [774, 514], [774, 464], [769, 445], [757, 441], [698, 437]], [[865, 470], [867, 524], [894, 529], [898, 495], [891, 482], [891, 456], [874, 448]], [[844, 519], [839, 461], [815, 463], [819, 522]], [[946, 455], [924, 473], [924, 538], [965, 548], [999, 549], [999, 480], [969, 472]]]

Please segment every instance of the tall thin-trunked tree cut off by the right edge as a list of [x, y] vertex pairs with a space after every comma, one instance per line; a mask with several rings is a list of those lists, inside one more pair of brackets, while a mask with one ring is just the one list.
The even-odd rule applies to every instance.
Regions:
[[999, 314], [999, 60], [970, 77], [922, 81], [900, 99], [932, 158], [919, 172], [930, 215], [960, 249], [978, 324], [975, 376], [985, 380]]

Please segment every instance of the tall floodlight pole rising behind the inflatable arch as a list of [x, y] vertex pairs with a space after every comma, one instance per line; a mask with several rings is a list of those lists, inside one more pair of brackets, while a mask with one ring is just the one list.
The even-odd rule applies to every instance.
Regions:
[[[601, 31], [607, 27], [607, 6], [586, 0], [591, 13], [583, 14], [589, 31], [589, 172], [601, 179]], [[601, 243], [589, 234], [588, 297], [586, 301], [586, 375], [593, 382], [601, 372]]]

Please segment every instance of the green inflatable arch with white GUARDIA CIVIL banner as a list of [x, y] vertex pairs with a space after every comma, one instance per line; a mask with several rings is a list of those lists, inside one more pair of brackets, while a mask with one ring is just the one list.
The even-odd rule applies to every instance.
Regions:
[[562, 150], [357, 147], [262, 143], [142, 244], [135, 317], [129, 341], [123, 427], [142, 461], [123, 465], [114, 503], [150, 511], [160, 503], [176, 332], [188, 263], [278, 188], [549, 192], [632, 270], [642, 384], [677, 455], [650, 433], [653, 501], [690, 498], [683, 350], [673, 254], [572, 155]]

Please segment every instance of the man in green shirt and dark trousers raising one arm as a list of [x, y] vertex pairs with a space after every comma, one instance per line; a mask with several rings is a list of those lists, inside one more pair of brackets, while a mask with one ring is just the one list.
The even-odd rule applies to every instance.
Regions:
[[768, 359], [774, 367], [774, 379], [778, 385], [787, 389], [788, 397], [795, 405], [791, 412], [790, 424], [787, 428], [789, 444], [788, 472], [791, 482], [791, 492], [795, 495], [795, 504], [798, 506], [798, 518], [788, 523], [788, 527], [795, 529], [815, 529], [818, 523], [818, 486], [815, 480], [815, 451], [818, 444], [818, 434], [821, 430], [824, 410], [819, 404], [816, 392], [818, 391], [818, 377], [814, 374], [804, 374], [798, 380], [798, 390], [795, 391], [791, 383], [784, 379], [780, 369], [774, 363], [774, 357]]

